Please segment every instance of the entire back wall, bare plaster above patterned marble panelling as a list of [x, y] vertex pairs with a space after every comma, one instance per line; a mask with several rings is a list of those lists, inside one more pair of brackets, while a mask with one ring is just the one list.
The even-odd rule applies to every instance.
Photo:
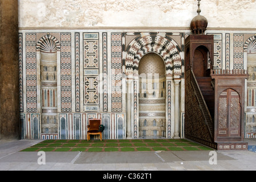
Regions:
[[[183, 138], [184, 43], [197, 1], [18, 2], [23, 139], [86, 139], [89, 118], [102, 118], [105, 139], [139, 138], [138, 65], [149, 52], [166, 65], [163, 133]], [[256, 137], [255, 8], [254, 0], [201, 2], [214, 69], [249, 71], [246, 138]]]

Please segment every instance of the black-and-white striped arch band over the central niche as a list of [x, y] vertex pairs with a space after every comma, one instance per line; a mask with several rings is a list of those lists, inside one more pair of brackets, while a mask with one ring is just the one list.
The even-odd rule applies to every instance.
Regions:
[[136, 38], [126, 48], [126, 75], [138, 75], [139, 61], [146, 53], [154, 52], [160, 55], [166, 64], [166, 76], [181, 77], [183, 56], [181, 48], [171, 38], [160, 35], [147, 35]]

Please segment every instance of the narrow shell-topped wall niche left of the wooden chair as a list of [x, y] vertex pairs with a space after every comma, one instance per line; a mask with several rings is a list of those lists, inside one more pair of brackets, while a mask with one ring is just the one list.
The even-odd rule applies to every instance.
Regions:
[[[57, 134], [57, 57], [59, 42], [56, 38], [47, 34], [39, 39], [37, 50], [41, 68], [41, 131], [42, 134]], [[63, 137], [63, 135], [60, 137]]]

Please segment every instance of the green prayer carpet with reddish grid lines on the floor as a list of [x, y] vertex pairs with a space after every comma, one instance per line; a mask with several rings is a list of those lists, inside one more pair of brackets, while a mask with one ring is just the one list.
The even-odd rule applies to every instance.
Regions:
[[43, 140], [22, 151], [202, 151], [213, 150], [186, 139], [106, 139], [106, 140]]

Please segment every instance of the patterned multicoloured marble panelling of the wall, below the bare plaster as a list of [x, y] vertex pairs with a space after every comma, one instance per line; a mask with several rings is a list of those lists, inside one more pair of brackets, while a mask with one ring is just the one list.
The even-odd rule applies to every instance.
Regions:
[[[134, 95], [131, 100], [127, 98], [130, 89], [127, 86], [127, 73], [130, 68], [136, 73], [138, 65], [130, 67], [129, 57], [135, 56], [135, 52], [138, 52], [135, 57], [142, 57], [147, 51], [161, 55], [161, 50], [164, 50], [159, 44], [168, 46], [163, 38], [166, 41], [169, 38], [173, 48], [177, 48], [176, 52], [170, 48], [173, 53], [169, 54], [174, 57], [170, 63], [166, 61], [166, 137], [174, 137], [175, 121], [178, 119], [178, 133], [182, 138], [183, 44], [189, 34], [191, 32], [188, 30], [19, 30], [19, 111], [22, 138], [86, 139], [88, 118], [102, 118], [105, 139], [126, 138], [129, 118], [131, 137], [139, 137], [139, 121], [135, 121], [136, 114], [139, 115], [139, 97], [136, 96], [136, 100]], [[206, 34], [214, 35], [214, 69], [247, 69], [247, 62], [250, 65], [253, 63], [253, 53], [256, 52], [255, 31], [214, 30], [206, 31]], [[45, 41], [48, 39], [53, 40], [51, 44]], [[152, 42], [154, 46], [150, 51], [142, 46]], [[56, 46], [55, 49], [52, 44]], [[48, 81], [45, 81], [47, 79], [43, 75], [47, 68], [43, 65], [47, 64], [45, 60], [52, 59], [51, 54], [47, 56], [50, 49], [55, 50], [55, 56], [53, 68], [48, 68], [56, 75], [55, 80], [51, 81], [53, 75], [50, 79], [49, 72]], [[162, 57], [165, 59], [163, 53]], [[251, 70], [253, 72], [250, 73]], [[245, 137], [255, 137], [256, 133], [253, 120], [256, 114], [255, 89], [252, 87], [255, 85], [254, 70], [250, 67], [251, 77], [247, 83], [249, 90], [246, 94]], [[133, 93], [139, 93], [138, 82], [133, 77]], [[177, 85], [178, 94], [175, 91]], [[179, 110], [175, 114], [177, 96]], [[131, 116], [127, 115], [128, 107], [134, 113]], [[51, 130], [51, 127], [55, 127], [55, 130]]]

